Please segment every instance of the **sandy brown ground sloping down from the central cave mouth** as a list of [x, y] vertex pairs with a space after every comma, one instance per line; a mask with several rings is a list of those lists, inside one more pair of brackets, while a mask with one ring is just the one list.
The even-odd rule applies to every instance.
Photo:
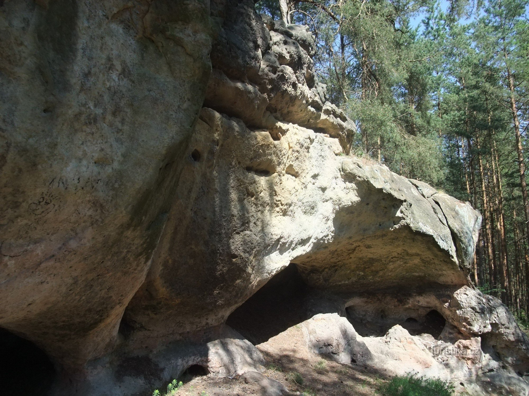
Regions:
[[[345, 366], [308, 352], [298, 326], [257, 345], [267, 361], [266, 376], [282, 382], [290, 394], [373, 396], [382, 380], [375, 372]], [[258, 383], [239, 378], [195, 377], [178, 395], [266, 395]]]

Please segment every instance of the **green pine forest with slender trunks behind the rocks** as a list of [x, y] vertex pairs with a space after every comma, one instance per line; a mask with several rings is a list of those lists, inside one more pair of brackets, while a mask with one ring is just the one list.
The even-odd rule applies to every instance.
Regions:
[[481, 212], [471, 279], [527, 331], [529, 0], [476, 1], [261, 0], [256, 10], [314, 32], [318, 79], [358, 126], [352, 154]]

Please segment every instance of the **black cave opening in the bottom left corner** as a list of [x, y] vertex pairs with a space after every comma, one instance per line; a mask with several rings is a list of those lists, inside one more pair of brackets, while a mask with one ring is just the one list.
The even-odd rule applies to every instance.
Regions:
[[31, 341], [0, 328], [0, 394], [45, 395], [54, 378], [47, 354]]

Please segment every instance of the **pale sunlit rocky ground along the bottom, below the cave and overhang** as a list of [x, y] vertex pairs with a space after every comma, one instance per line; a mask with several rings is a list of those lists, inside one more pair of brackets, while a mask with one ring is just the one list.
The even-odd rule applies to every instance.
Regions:
[[[451, 349], [438, 346], [442, 353], [435, 348], [429, 351], [425, 346], [434, 340], [431, 334], [412, 336], [400, 325], [381, 337], [362, 337], [343, 317], [315, 315], [258, 344], [258, 351], [241, 340], [240, 334], [232, 331], [232, 336], [238, 339], [212, 343], [209, 371], [206, 366], [191, 366], [178, 379], [183, 385], [168, 396], [381, 395], [384, 383], [407, 373], [449, 381], [458, 396], [527, 395], [526, 383], [516, 381], [512, 373], [505, 372], [501, 380], [482, 373], [494, 366], [490, 356], [482, 356], [486, 353], [451, 356], [454, 351], [463, 353], [461, 340], [454, 345], [446, 343]], [[252, 349], [253, 359], [244, 359], [241, 353]], [[222, 371], [216, 370], [219, 362], [232, 366], [231, 374], [221, 375]], [[470, 376], [472, 370], [474, 376]]]

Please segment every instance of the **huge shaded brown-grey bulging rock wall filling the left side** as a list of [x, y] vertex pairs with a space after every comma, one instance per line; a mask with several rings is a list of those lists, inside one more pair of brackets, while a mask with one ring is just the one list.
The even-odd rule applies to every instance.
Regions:
[[0, 326], [62, 365], [112, 350], [145, 278], [205, 96], [209, 8], [0, 6]]

